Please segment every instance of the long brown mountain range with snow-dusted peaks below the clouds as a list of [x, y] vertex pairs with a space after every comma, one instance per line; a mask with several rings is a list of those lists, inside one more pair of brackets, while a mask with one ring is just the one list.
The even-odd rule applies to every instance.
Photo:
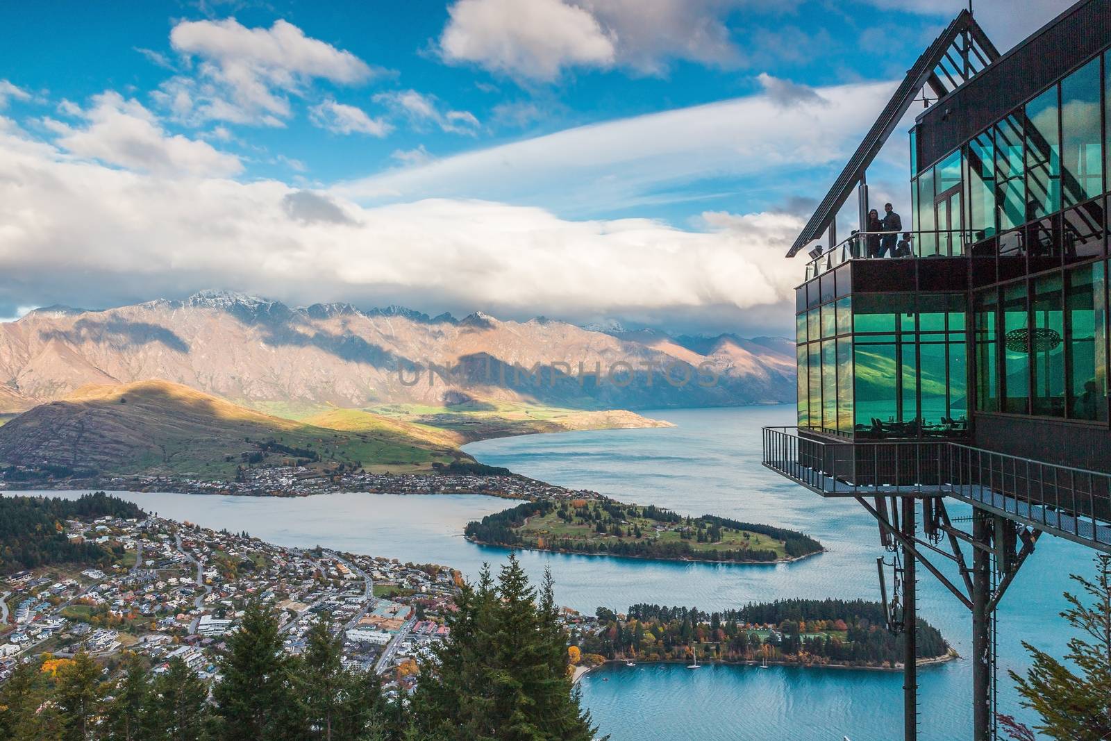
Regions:
[[389, 404], [735, 405], [792, 400], [794, 348], [783, 338], [670, 337], [481, 312], [290, 308], [220, 290], [106, 310], [50, 307], [0, 323], [0, 413], [149, 379], [291, 418]]

